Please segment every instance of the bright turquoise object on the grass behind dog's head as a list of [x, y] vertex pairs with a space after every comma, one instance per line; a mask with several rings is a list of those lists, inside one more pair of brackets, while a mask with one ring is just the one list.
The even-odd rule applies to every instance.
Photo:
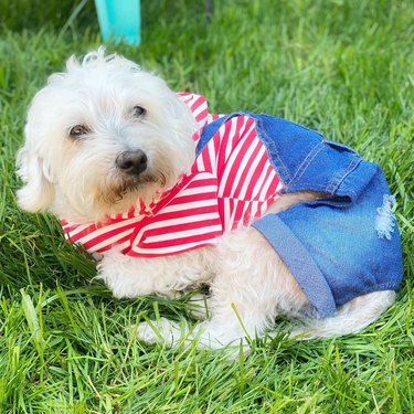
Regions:
[[139, 0], [95, 0], [100, 34], [104, 42], [141, 42], [141, 13]]

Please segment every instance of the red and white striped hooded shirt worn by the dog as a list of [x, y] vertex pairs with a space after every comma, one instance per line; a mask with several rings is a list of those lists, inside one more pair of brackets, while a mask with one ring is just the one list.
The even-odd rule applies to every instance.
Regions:
[[[179, 94], [200, 131], [217, 119], [203, 96]], [[103, 223], [79, 225], [62, 220], [66, 237], [89, 253], [117, 246], [128, 256], [169, 256], [213, 245], [224, 232], [250, 225], [278, 197], [280, 182], [247, 115], [230, 118], [209, 140], [172, 189], [149, 208], [131, 208]]]

